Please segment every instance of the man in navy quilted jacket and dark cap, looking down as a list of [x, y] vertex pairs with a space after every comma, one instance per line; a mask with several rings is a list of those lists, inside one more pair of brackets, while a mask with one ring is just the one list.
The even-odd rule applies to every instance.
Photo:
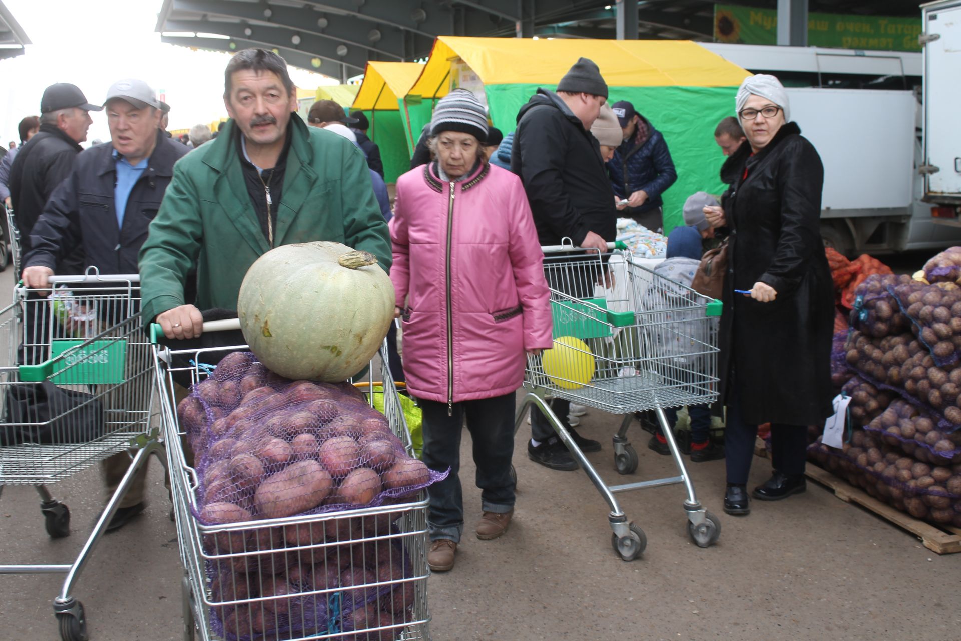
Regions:
[[664, 136], [627, 100], [611, 105], [621, 123], [624, 142], [607, 161], [607, 173], [625, 214], [651, 230], [664, 228], [661, 194], [678, 180]]

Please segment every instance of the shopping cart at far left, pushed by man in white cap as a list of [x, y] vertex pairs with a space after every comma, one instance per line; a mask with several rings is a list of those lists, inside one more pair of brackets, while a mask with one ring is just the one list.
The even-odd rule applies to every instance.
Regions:
[[73, 563], [0, 565], [0, 574], [66, 574], [54, 600], [64, 641], [86, 639], [84, 606], [71, 596], [74, 583], [136, 472], [161, 447], [159, 430], [151, 430], [153, 351], [141, 328], [139, 297], [136, 275], [91, 269], [52, 277], [46, 290], [18, 286], [12, 305], [0, 310], [8, 338], [8, 364], [0, 367], [0, 488], [34, 485], [47, 533], [66, 536], [70, 511], [46, 485], [136, 448]]

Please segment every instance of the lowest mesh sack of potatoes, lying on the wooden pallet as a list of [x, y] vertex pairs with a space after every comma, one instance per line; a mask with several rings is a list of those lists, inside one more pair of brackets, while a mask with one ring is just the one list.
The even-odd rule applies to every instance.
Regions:
[[915, 518], [961, 527], [959, 464], [932, 466], [889, 448], [879, 436], [863, 430], [855, 430], [843, 450], [813, 443], [808, 457]]

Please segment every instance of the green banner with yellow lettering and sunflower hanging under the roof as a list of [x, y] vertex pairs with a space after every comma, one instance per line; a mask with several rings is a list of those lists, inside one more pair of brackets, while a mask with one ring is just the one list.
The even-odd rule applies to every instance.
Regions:
[[[808, 14], [807, 44], [841, 49], [921, 51], [921, 17]], [[777, 12], [738, 5], [714, 5], [714, 39], [744, 44], [777, 44]]]

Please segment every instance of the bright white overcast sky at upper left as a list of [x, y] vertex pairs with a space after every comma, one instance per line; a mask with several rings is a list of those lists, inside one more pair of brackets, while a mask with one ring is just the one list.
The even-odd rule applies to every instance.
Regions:
[[[94, 105], [122, 78], [140, 78], [164, 91], [170, 129], [185, 129], [227, 115], [226, 53], [191, 51], [160, 42], [154, 31], [162, 0], [4, 0], [33, 42], [26, 54], [0, 60], [0, 141], [19, 142], [16, 123], [38, 115], [43, 88], [79, 86]], [[333, 84], [326, 76], [291, 67], [298, 86]], [[91, 112], [87, 143], [110, 138], [103, 111]], [[86, 146], [86, 143], [85, 143]]]

